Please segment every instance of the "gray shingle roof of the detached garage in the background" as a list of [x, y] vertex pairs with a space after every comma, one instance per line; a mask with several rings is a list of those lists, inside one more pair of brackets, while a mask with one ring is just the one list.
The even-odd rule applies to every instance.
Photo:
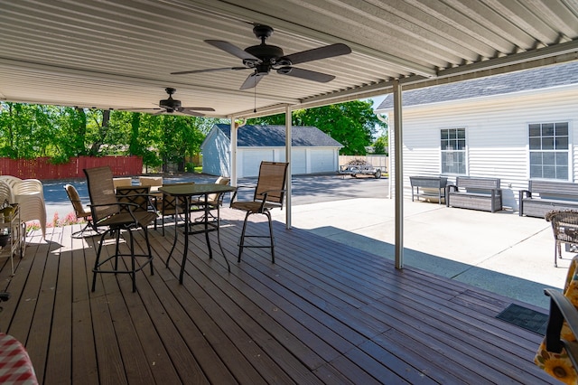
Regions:
[[[227, 124], [217, 124], [219, 130], [225, 134], [229, 140], [231, 138], [231, 127]], [[292, 146], [300, 147], [342, 147], [342, 145], [331, 136], [325, 134], [317, 127], [292, 127]], [[237, 146], [242, 147], [284, 147], [285, 127], [284, 126], [251, 126], [238, 127]]]

